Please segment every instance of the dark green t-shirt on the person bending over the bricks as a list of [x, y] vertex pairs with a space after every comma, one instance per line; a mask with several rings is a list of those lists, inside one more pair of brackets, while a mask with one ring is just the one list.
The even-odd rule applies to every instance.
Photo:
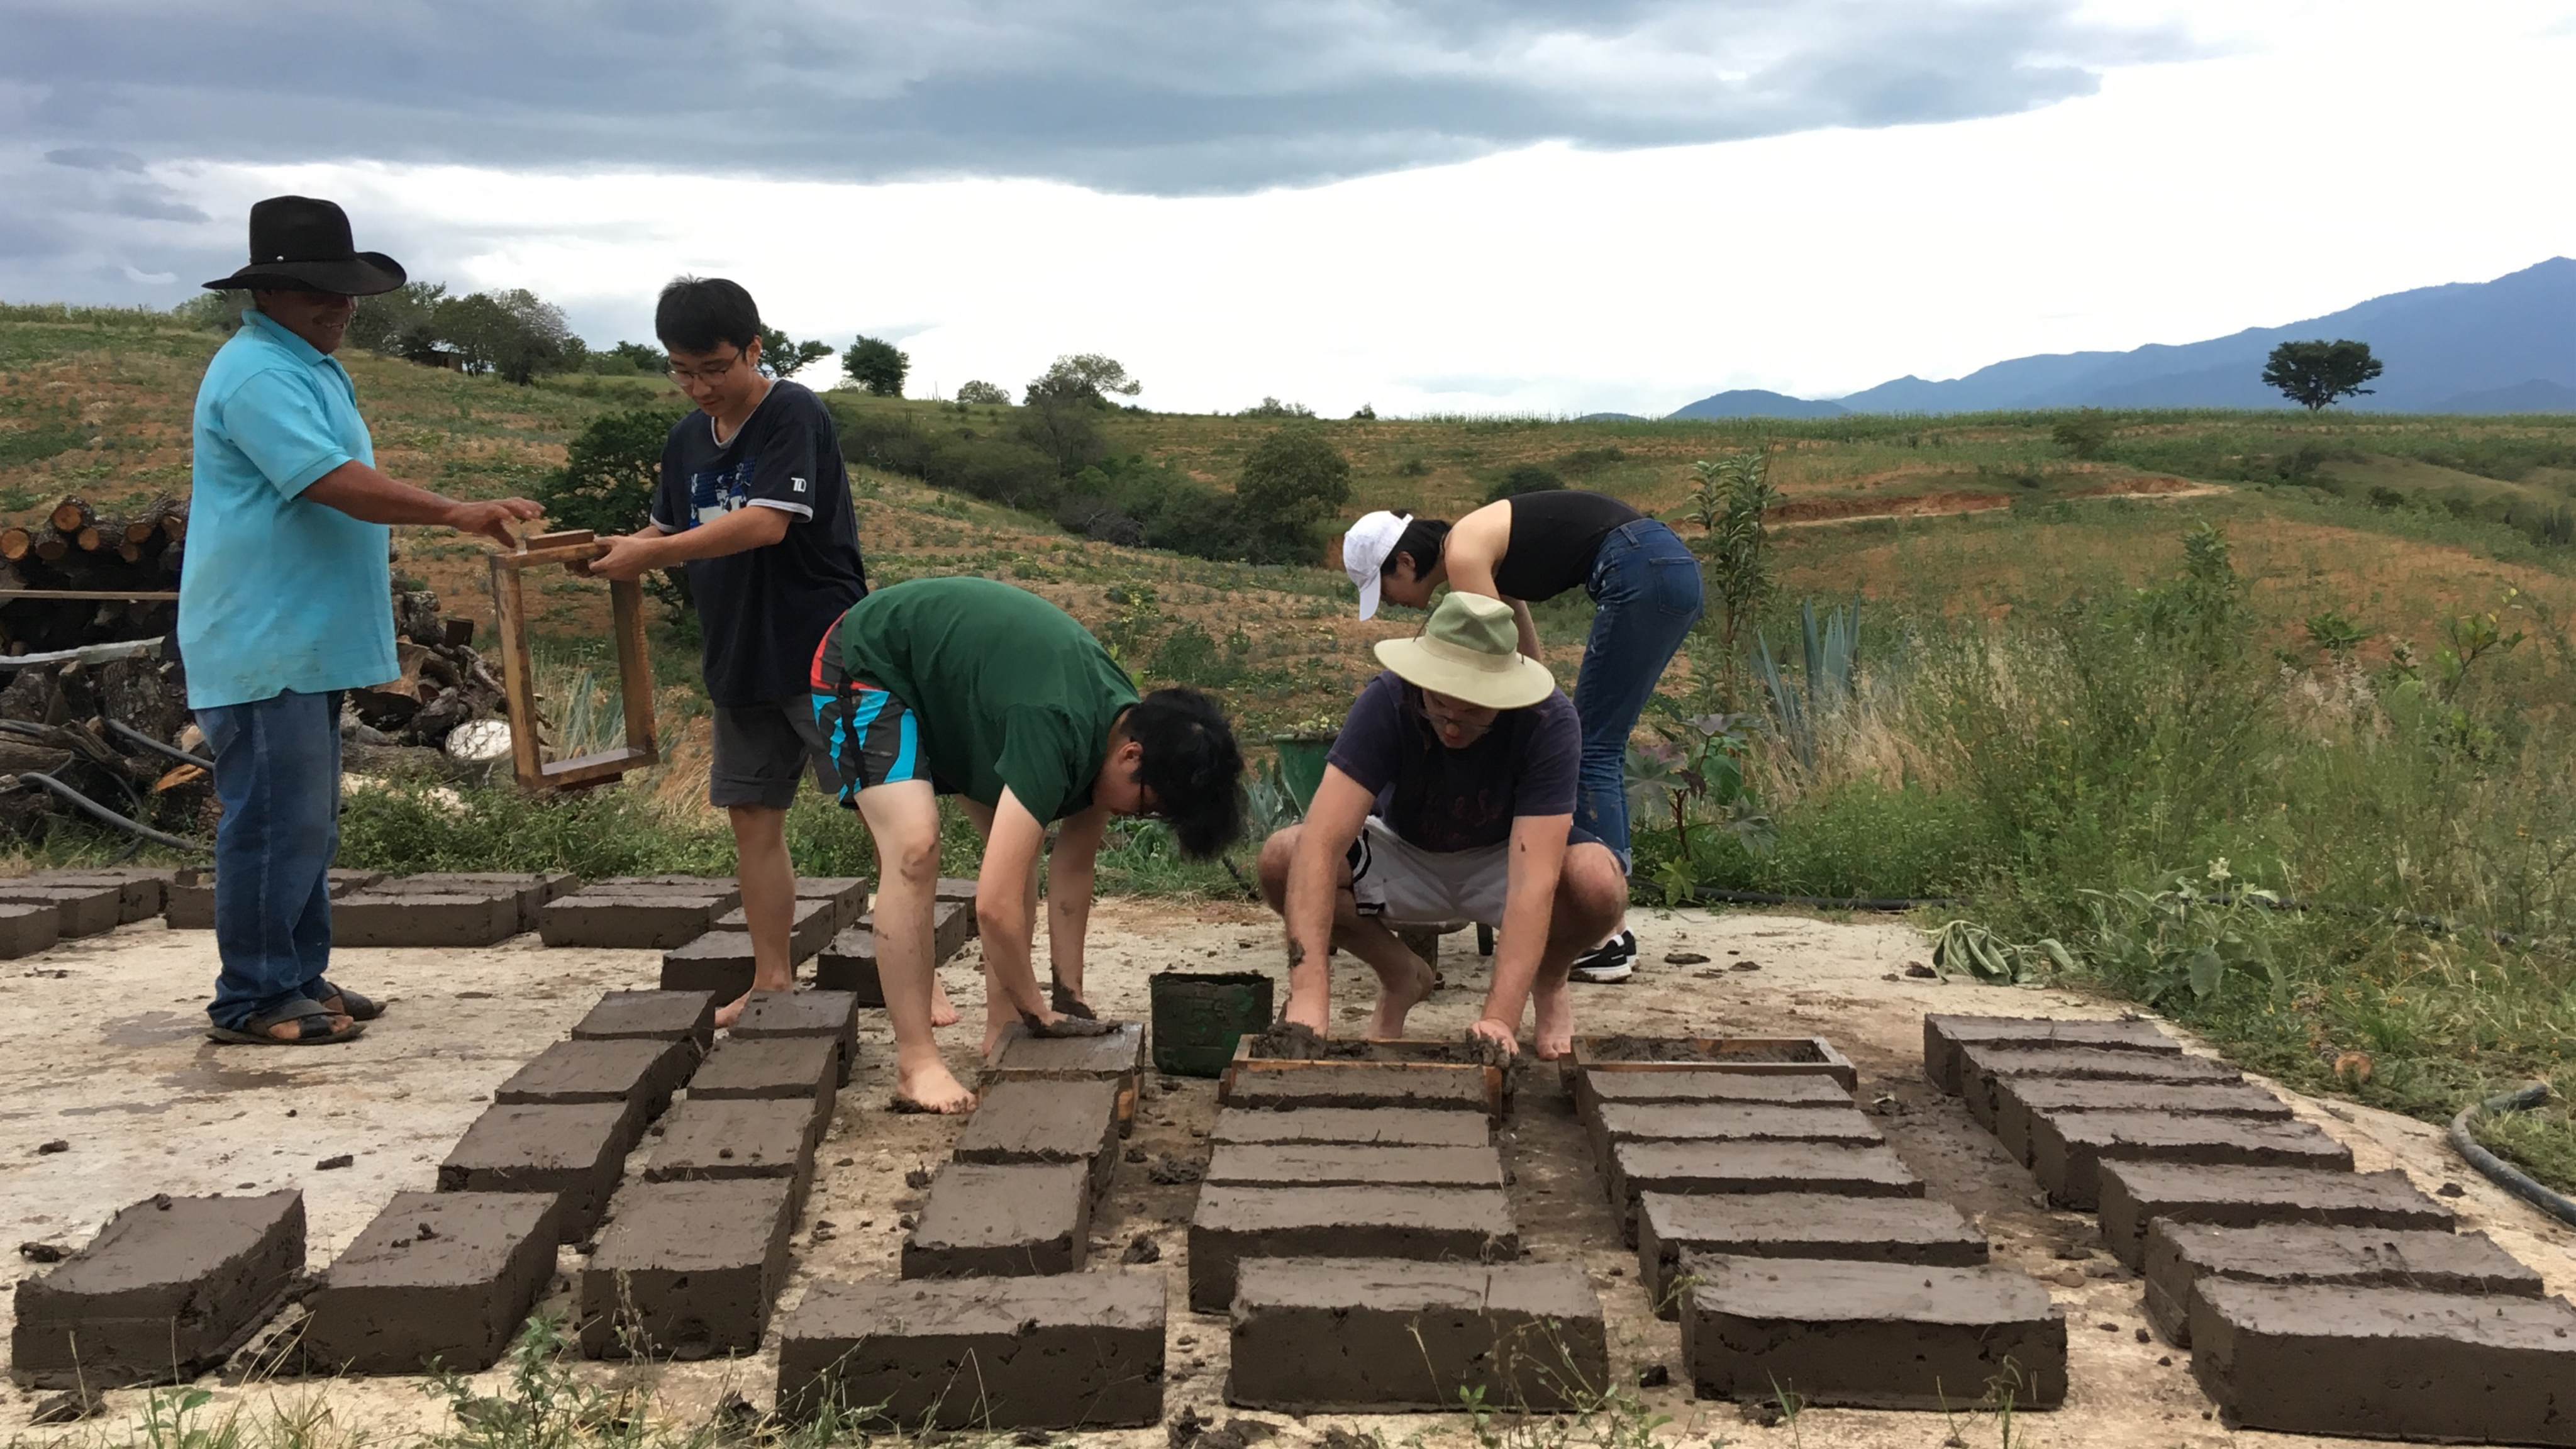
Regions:
[[1038, 820], [1092, 804], [1110, 724], [1136, 704], [1118, 660], [1072, 614], [989, 578], [917, 578], [840, 616], [840, 660], [902, 699], [943, 792]]

